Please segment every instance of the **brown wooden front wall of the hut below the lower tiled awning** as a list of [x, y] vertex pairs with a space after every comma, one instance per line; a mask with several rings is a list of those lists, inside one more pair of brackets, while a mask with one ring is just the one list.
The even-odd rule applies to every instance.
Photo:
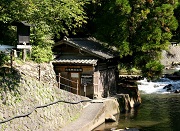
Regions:
[[[74, 69], [74, 70], [71, 70]], [[77, 69], [77, 70], [76, 70]], [[82, 69], [82, 70], [81, 70]], [[93, 97], [93, 66], [91, 65], [55, 65], [54, 70], [57, 74], [60, 73], [62, 77], [72, 80], [78, 81], [78, 94], [79, 95], [86, 95], [88, 97]], [[74, 75], [74, 76], [73, 76]], [[62, 89], [67, 91], [76, 93], [76, 90], [72, 90], [64, 85], [72, 86], [73, 88], [77, 87], [77, 84], [73, 84], [73, 82], [68, 81], [64, 78], [60, 79]], [[84, 92], [84, 88], [86, 87], [86, 93]]]

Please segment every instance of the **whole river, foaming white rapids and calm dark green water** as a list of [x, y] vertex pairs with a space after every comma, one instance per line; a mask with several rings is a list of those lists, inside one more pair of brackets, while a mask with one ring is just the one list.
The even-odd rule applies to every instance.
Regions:
[[[139, 131], [180, 131], [180, 81], [161, 79], [157, 82], [140, 81], [142, 104], [116, 116], [114, 123], [102, 124], [95, 131], [135, 128]], [[163, 89], [171, 84], [171, 90]]]

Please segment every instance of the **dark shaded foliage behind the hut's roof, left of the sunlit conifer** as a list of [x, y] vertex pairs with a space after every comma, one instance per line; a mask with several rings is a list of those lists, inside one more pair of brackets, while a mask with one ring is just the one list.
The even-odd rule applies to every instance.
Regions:
[[[96, 30], [94, 31], [95, 37], [101, 41], [107, 42], [110, 45], [116, 46], [118, 49], [125, 49], [124, 54], [129, 53], [129, 47], [126, 46], [128, 39], [128, 14], [131, 7], [128, 1], [112, 0], [100, 1], [98, 6], [94, 5], [89, 14], [92, 15], [92, 21]], [[95, 13], [91, 13], [95, 12]], [[94, 28], [93, 28], [94, 29]], [[124, 42], [121, 46], [119, 42]]]

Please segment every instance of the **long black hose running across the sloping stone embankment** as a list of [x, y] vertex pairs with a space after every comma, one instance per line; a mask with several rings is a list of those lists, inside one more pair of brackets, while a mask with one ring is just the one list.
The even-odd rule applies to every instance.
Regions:
[[52, 103], [49, 103], [49, 104], [45, 104], [45, 105], [42, 105], [42, 106], [36, 106], [30, 112], [28, 112], [26, 114], [14, 116], [14, 117], [8, 118], [6, 120], [0, 121], [0, 124], [6, 123], [6, 122], [11, 121], [11, 120], [16, 119], [16, 118], [29, 116], [30, 114], [32, 114], [38, 108], [48, 107], [50, 105], [54, 105], [54, 104], [59, 103], [59, 102], [64, 102], [64, 103], [69, 103], [69, 104], [78, 104], [78, 103], [90, 102], [90, 101], [92, 101], [92, 100], [91, 99], [89, 99], [89, 100], [80, 100], [80, 101], [77, 101], [77, 102], [69, 102], [69, 101], [58, 100], [58, 101], [55, 101], [55, 102], [52, 102]]

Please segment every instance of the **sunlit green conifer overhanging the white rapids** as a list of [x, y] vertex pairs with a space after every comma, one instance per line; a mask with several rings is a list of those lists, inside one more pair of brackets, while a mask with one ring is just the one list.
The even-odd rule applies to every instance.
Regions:
[[[141, 67], [145, 77], [151, 76], [152, 78], [152, 75], [159, 76], [158, 74], [162, 73], [161, 52], [168, 49], [172, 31], [176, 30], [178, 26], [174, 17], [176, 4], [149, 1], [148, 4], [141, 3], [140, 7], [141, 11], [132, 15], [137, 20], [137, 22], [135, 21], [136, 26], [133, 26], [134, 32], [131, 34], [132, 49], [134, 50], [135, 65]], [[134, 21], [131, 23], [134, 24]], [[153, 68], [147, 70], [148, 65], [152, 65], [152, 61], [154, 61], [153, 66], [156, 70]]]

